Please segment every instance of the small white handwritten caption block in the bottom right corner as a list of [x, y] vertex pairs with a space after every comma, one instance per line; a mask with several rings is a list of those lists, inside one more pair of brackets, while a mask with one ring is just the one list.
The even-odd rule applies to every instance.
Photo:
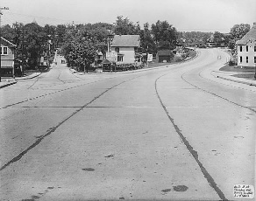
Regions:
[[253, 185], [245, 185], [245, 184], [234, 185], [234, 198], [254, 198]]

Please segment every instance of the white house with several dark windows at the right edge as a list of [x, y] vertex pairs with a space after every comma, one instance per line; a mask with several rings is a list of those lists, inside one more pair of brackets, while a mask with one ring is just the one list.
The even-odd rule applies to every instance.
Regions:
[[238, 66], [256, 65], [256, 23], [243, 38], [237, 41], [238, 45]]

